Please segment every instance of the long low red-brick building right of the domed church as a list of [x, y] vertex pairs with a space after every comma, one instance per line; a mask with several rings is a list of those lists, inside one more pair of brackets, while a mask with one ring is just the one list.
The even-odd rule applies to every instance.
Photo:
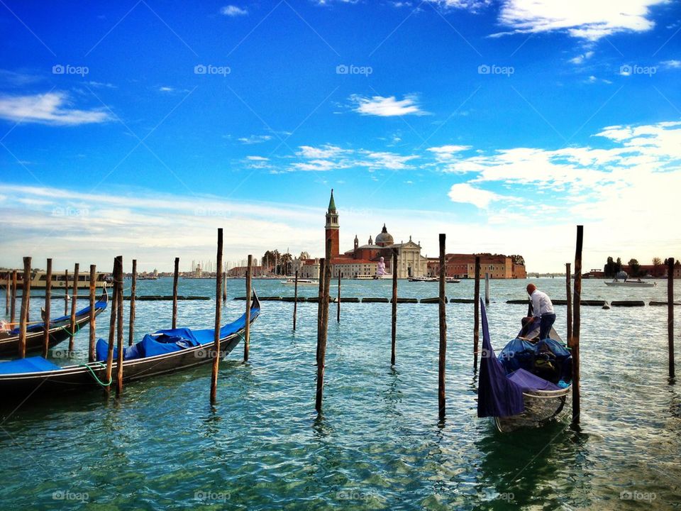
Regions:
[[[451, 278], [475, 278], [475, 256], [480, 255], [480, 276], [492, 279], [527, 278], [525, 260], [521, 255], [503, 254], [446, 254], [445, 275]], [[428, 260], [428, 276], [440, 274], [440, 260]]]

